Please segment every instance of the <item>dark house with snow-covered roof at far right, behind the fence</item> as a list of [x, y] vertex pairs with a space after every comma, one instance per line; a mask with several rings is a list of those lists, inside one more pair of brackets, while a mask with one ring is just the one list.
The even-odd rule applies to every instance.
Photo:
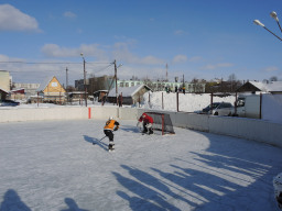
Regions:
[[270, 93], [282, 93], [282, 81], [271, 81], [271, 82], [259, 82], [259, 81], [247, 81], [240, 88], [236, 90], [237, 92], [270, 92]]

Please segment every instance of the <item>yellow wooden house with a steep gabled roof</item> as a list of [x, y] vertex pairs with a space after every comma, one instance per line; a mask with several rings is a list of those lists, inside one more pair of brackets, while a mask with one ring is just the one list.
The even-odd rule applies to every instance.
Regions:
[[45, 82], [41, 84], [37, 91], [40, 91], [41, 95], [43, 95], [44, 102], [53, 102], [61, 104], [64, 103], [66, 100], [66, 90], [59, 84], [55, 76], [51, 79], [47, 79]]

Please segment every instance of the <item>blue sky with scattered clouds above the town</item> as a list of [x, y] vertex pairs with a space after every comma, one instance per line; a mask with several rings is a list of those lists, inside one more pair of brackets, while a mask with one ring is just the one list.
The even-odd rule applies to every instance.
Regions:
[[[57, 76], [69, 84], [112, 75], [120, 79], [282, 79], [281, 0], [1, 0], [0, 69], [14, 82]], [[15, 63], [21, 62], [21, 63]]]

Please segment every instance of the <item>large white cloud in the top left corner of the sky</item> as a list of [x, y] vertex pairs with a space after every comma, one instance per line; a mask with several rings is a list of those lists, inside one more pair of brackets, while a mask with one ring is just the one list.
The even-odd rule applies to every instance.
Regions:
[[40, 32], [39, 23], [10, 4], [0, 4], [0, 31], [35, 31]]

